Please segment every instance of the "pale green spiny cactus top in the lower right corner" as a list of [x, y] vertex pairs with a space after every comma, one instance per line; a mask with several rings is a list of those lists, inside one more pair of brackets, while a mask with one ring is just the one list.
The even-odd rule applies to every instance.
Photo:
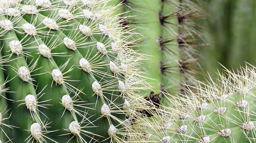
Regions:
[[145, 136], [161, 143], [255, 142], [255, 69], [225, 69], [227, 76], [219, 73], [217, 82], [209, 78], [208, 83], [189, 87], [186, 98], [169, 96], [169, 106], [160, 107], [152, 119], [142, 119]]

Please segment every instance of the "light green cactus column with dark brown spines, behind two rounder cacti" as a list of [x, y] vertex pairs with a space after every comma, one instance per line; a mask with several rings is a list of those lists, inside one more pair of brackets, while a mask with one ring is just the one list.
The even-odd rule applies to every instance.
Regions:
[[[195, 84], [198, 55], [195, 40], [201, 34], [193, 19], [200, 16], [197, 2], [190, 1], [122, 1], [126, 23], [144, 36], [139, 49], [148, 59], [142, 70], [153, 90], [183, 93], [183, 83]], [[130, 12], [131, 11], [131, 12]], [[137, 38], [137, 37], [136, 37]]]

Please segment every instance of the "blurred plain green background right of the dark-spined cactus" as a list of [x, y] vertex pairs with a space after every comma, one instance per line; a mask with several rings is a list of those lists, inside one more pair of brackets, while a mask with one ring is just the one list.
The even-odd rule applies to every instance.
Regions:
[[256, 66], [256, 1], [206, 0], [204, 17], [197, 21], [203, 26], [205, 43], [199, 48], [205, 60], [202, 69], [211, 75], [222, 69], [238, 69], [245, 61]]

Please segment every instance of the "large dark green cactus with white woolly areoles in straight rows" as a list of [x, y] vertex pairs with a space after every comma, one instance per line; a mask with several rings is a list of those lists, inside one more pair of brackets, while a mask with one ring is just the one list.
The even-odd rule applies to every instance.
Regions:
[[2, 142], [141, 140], [141, 55], [108, 2], [0, 1]]

